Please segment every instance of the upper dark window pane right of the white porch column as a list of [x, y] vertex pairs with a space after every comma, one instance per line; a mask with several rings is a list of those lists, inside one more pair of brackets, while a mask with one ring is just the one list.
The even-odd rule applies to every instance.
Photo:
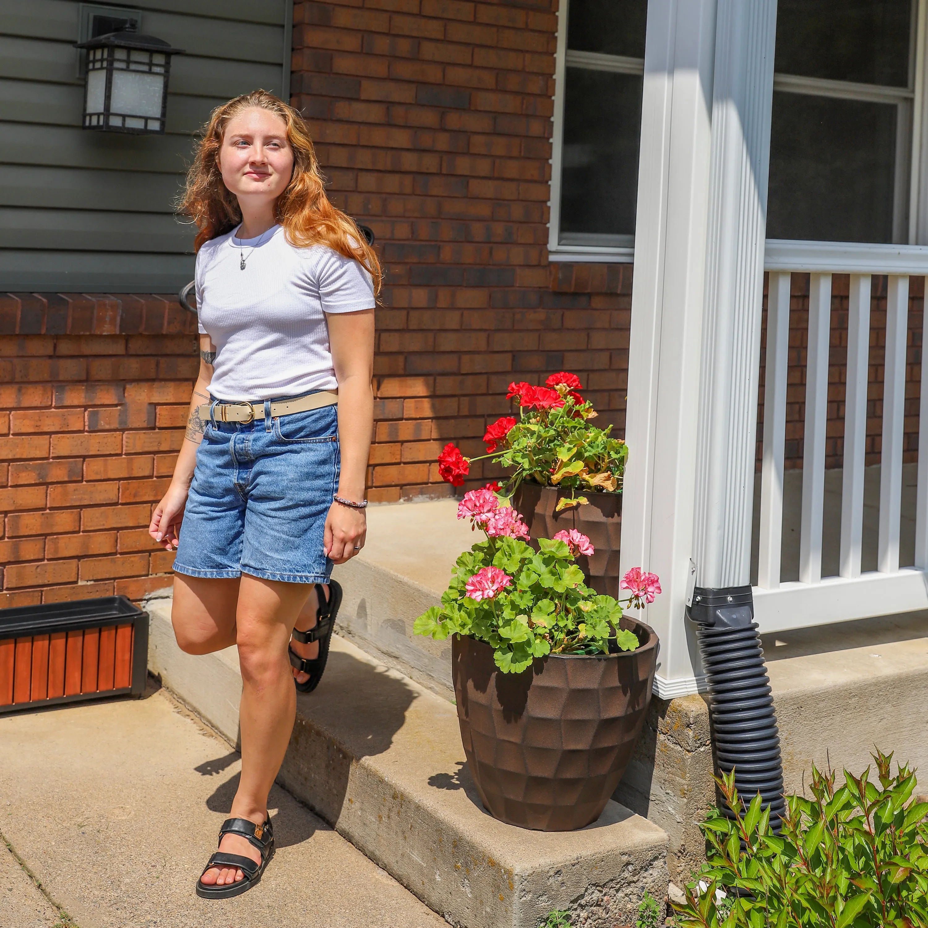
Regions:
[[912, 0], [779, 0], [775, 70], [907, 87], [911, 16]]

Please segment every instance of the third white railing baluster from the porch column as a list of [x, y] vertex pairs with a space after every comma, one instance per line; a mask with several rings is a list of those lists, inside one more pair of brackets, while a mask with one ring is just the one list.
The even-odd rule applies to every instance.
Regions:
[[860, 576], [864, 532], [864, 464], [867, 453], [867, 381], [870, 359], [870, 275], [852, 274], [847, 313], [847, 381], [844, 394], [844, 482], [841, 493], [843, 577]]

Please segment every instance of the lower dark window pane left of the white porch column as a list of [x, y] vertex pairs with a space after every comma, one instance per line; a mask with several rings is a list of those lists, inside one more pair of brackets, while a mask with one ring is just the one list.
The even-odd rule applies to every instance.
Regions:
[[641, 84], [634, 74], [567, 69], [562, 242], [571, 233], [634, 235]]

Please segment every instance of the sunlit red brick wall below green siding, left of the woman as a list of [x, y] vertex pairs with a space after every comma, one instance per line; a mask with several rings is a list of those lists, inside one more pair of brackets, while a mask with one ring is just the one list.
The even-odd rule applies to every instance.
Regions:
[[[171, 584], [147, 526], [199, 367], [170, 297], [0, 298], [0, 607]], [[80, 333], [80, 334], [78, 334]]]

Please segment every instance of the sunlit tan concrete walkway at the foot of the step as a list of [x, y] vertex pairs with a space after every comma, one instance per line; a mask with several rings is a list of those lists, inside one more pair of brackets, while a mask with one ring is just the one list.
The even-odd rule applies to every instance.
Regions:
[[0, 744], [0, 838], [34, 875], [0, 843], [0, 928], [446, 924], [277, 786], [262, 883], [196, 896], [239, 757], [166, 690], [7, 715]]

